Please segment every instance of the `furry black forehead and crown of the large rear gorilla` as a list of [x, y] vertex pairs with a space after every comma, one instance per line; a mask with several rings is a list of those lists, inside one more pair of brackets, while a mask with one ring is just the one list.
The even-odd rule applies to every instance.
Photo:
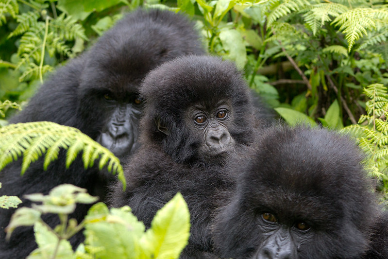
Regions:
[[109, 90], [117, 98], [135, 93], [148, 71], [171, 58], [204, 53], [183, 15], [138, 9], [119, 20], [87, 53], [81, 91]]

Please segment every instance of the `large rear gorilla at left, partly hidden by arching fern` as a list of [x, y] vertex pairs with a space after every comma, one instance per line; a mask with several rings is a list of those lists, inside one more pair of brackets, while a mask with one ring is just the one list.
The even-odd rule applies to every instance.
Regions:
[[[138, 88], [143, 77], [176, 56], [203, 53], [193, 23], [183, 15], [137, 10], [118, 21], [89, 51], [58, 69], [10, 122], [53, 121], [72, 126], [118, 157], [127, 156], [136, 148], [142, 111]], [[80, 157], [66, 169], [65, 155], [61, 151], [45, 172], [40, 159], [22, 177], [21, 163], [7, 166], [0, 173], [0, 196], [47, 194], [59, 184], [70, 183], [103, 200], [110, 175], [97, 166], [84, 170]], [[23, 200], [22, 206], [29, 204]], [[79, 205], [71, 216], [80, 222], [88, 207]], [[3, 229], [13, 212], [0, 210], [0, 258], [24, 258], [36, 247], [31, 227], [17, 228], [10, 242], [5, 242]], [[56, 215], [46, 216], [45, 221], [51, 226], [59, 223]]]

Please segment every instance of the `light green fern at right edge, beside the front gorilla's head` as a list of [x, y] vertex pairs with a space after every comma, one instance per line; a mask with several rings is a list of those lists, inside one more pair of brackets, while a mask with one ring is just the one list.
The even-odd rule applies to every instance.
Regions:
[[[384, 193], [388, 194], [388, 92], [382, 84], [372, 84], [364, 89], [369, 98], [366, 115], [358, 124], [343, 130], [356, 136], [360, 148], [367, 153], [371, 172], [382, 180]], [[388, 198], [388, 195], [387, 195]]]

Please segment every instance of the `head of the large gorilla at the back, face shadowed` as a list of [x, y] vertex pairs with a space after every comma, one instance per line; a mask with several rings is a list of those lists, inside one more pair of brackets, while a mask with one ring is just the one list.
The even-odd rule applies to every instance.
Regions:
[[193, 25], [182, 15], [138, 10], [120, 20], [87, 54], [78, 89], [87, 134], [117, 156], [132, 153], [143, 77], [173, 57], [203, 52]]

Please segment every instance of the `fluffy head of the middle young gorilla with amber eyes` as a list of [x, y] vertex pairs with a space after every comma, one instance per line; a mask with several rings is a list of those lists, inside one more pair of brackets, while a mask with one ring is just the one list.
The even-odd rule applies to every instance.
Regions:
[[143, 141], [176, 162], [214, 160], [252, 141], [251, 92], [231, 63], [179, 57], [152, 70], [142, 86]]

